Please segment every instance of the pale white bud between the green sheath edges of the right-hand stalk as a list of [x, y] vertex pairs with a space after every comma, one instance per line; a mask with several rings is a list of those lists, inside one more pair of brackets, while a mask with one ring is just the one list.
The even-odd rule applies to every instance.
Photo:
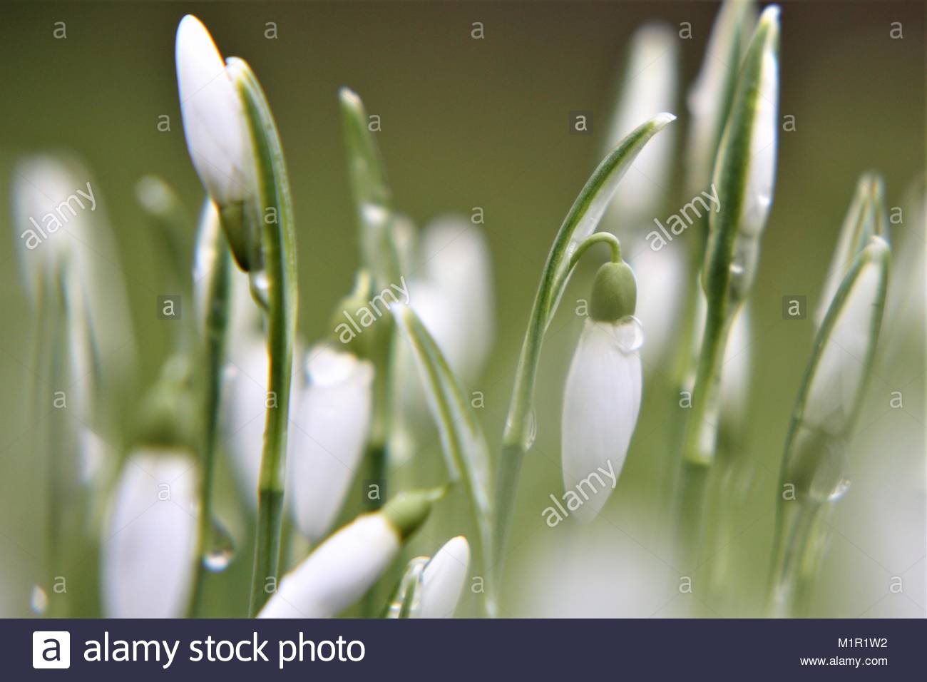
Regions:
[[840, 434], [849, 426], [873, 338], [883, 277], [882, 264], [870, 261], [847, 294], [811, 379], [804, 414], [810, 427]]

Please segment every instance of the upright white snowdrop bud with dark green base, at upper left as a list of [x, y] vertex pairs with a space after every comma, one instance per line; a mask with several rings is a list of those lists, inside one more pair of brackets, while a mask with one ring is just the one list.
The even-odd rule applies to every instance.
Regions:
[[259, 236], [244, 208], [256, 190], [257, 161], [244, 104], [210, 32], [192, 15], [177, 27], [175, 56], [190, 159], [219, 207], [235, 260], [257, 269]]

